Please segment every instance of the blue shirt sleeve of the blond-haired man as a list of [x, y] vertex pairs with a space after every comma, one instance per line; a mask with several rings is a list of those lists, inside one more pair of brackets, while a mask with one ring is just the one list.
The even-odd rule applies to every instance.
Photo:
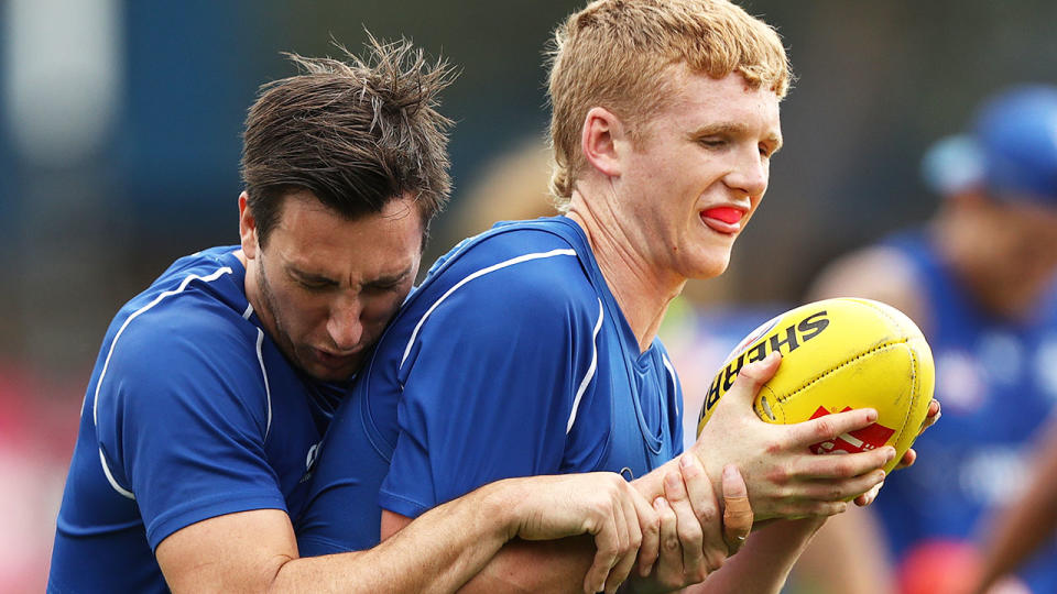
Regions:
[[477, 278], [422, 323], [397, 372], [383, 508], [416, 517], [484, 483], [559, 471], [598, 305], [577, 307], [546, 266]]

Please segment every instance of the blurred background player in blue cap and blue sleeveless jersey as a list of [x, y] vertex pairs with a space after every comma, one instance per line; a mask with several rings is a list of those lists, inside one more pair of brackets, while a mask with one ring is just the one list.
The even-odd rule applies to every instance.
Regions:
[[[990, 98], [968, 133], [937, 143], [923, 168], [942, 197], [931, 220], [836, 261], [810, 296], [870, 297], [909, 315], [931, 344], [945, 414], [915, 443], [922, 459], [885, 481], [874, 508], [831, 521], [805, 556], [816, 564], [802, 574], [827, 592], [968, 587], [981, 520], [1024, 486], [1057, 398], [1057, 88]], [[878, 519], [894, 583], [884, 552], [864, 553]], [[1057, 592], [1051, 539], [1021, 575], [1032, 592]]]

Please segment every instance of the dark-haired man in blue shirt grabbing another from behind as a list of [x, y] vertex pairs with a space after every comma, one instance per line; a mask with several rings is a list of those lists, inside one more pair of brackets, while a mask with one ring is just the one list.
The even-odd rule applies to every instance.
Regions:
[[263, 88], [246, 124], [241, 245], [177, 260], [110, 324], [50, 592], [443, 592], [511, 538], [585, 532], [598, 590], [640, 542], [656, 556], [650, 504], [596, 473], [493, 483], [370, 551], [298, 559], [307, 469], [449, 187], [435, 109], [448, 69], [406, 43], [370, 50], [351, 64], [294, 56], [305, 73]]

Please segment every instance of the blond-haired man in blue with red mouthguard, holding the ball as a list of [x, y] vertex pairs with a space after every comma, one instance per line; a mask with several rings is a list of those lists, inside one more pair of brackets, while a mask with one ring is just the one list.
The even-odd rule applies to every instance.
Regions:
[[[772, 356], [742, 370], [679, 455], [682, 394], [656, 331], [688, 278], [723, 272], [766, 190], [785, 51], [724, 0], [602, 0], [558, 28], [553, 58], [553, 187], [565, 215], [497, 226], [434, 265], [323, 446], [303, 548], [370, 546], [379, 526], [391, 537], [495, 479], [609, 470], [662, 517], [661, 558], [640, 563], [631, 587], [707, 576], [709, 590], [777, 591], [822, 518], [875, 487], [894, 450], [806, 453], [868, 426], [872, 410], [756, 419], [749, 402], [776, 370]], [[808, 519], [773, 522], [724, 563], [711, 492], [731, 463], [758, 519]], [[701, 476], [707, 491], [687, 497]], [[513, 542], [465, 587], [579, 591], [591, 559], [582, 540]]]

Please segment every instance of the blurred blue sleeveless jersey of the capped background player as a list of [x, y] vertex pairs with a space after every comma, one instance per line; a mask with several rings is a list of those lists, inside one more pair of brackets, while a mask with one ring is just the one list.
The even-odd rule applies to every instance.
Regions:
[[[1057, 292], [1029, 322], [983, 311], [923, 233], [891, 239], [914, 266], [933, 321], [936, 398], [944, 418], [914, 448], [917, 463], [885, 480], [874, 504], [897, 559], [934, 539], [972, 540], [985, 512], [1023, 487], [1034, 439], [1057, 402]], [[1054, 543], [1021, 572], [1033, 592], [1057, 592]]]

